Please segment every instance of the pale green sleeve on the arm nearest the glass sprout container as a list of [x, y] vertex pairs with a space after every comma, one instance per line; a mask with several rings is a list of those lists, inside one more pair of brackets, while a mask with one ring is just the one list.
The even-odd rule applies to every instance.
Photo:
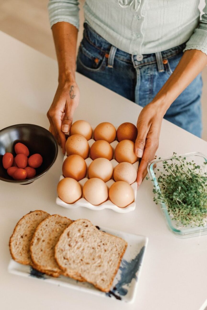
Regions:
[[195, 49], [207, 55], [207, 0], [205, 0], [203, 12], [204, 14], [201, 16], [198, 27], [187, 41], [183, 51]]

